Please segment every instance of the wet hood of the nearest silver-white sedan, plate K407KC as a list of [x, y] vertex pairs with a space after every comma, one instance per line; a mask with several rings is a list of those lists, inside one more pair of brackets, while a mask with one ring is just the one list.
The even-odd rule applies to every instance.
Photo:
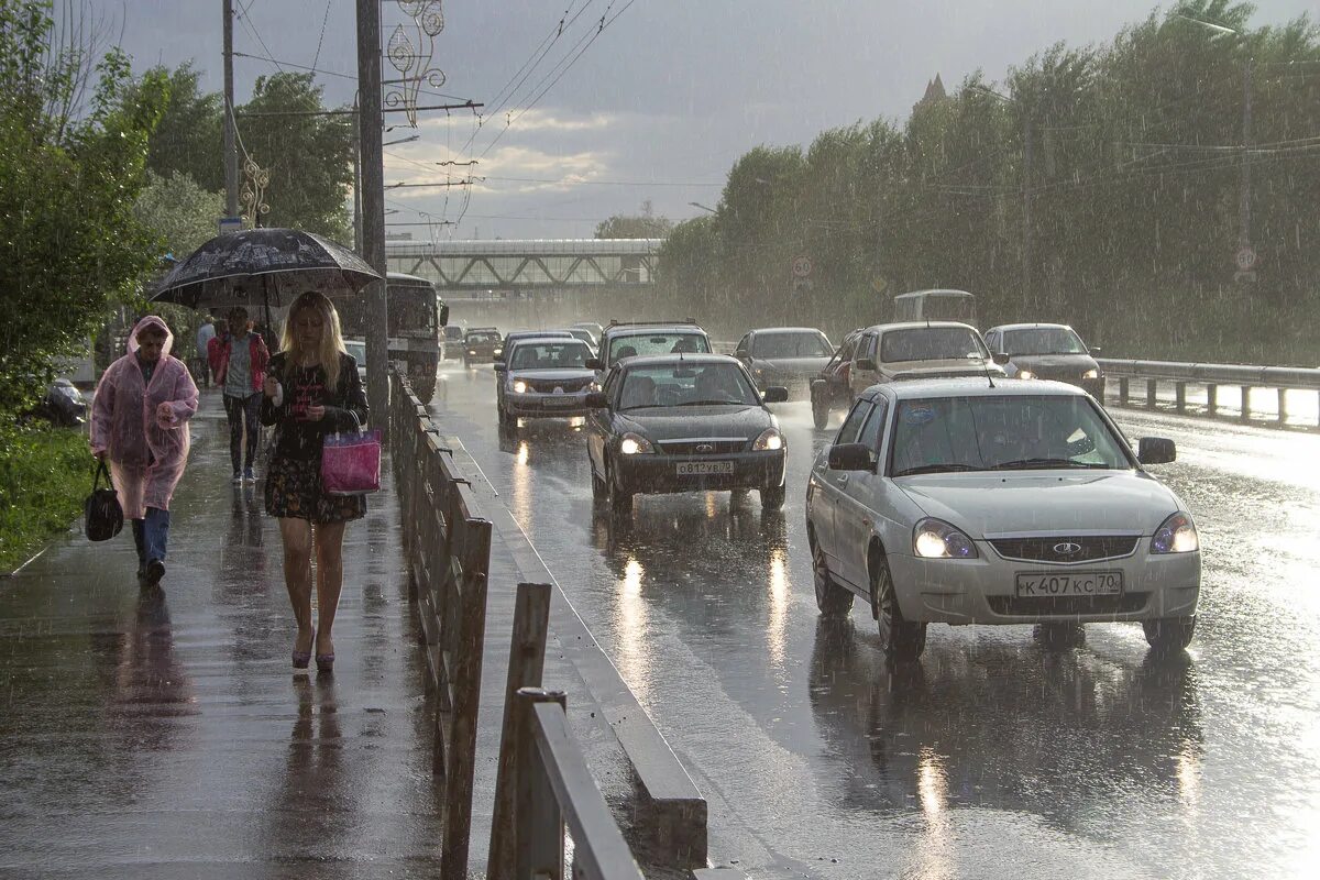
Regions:
[[894, 483], [927, 516], [973, 538], [1040, 532], [1154, 534], [1180, 509], [1171, 489], [1140, 471], [920, 474]]

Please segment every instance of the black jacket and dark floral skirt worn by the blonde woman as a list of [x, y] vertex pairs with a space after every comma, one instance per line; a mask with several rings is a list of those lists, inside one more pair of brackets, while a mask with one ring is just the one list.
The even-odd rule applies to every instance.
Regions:
[[[326, 434], [367, 427], [367, 396], [351, 355], [339, 355], [339, 385], [331, 392], [325, 369], [300, 367], [280, 352], [271, 359], [269, 373], [282, 396], [276, 406], [261, 398], [261, 424], [275, 425], [275, 449], [265, 471], [265, 512], [312, 522], [346, 522], [367, 512], [362, 495], [327, 495], [321, 487], [321, 449]], [[321, 421], [308, 421], [309, 406], [322, 405]]]

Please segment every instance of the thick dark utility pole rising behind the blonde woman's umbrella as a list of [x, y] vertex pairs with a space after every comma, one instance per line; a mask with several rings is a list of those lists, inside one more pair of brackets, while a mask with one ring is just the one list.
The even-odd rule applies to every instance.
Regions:
[[367, 404], [385, 433], [389, 412], [389, 315], [385, 297], [385, 169], [381, 164], [380, 0], [358, 0], [358, 166], [362, 259], [380, 276], [362, 292], [367, 319]]

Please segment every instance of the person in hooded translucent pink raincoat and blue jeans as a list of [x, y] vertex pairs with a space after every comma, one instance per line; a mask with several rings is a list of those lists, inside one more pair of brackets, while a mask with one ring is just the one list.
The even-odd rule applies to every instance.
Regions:
[[165, 575], [169, 500], [187, 463], [187, 420], [197, 412], [197, 385], [182, 360], [170, 358], [174, 335], [156, 315], [137, 322], [128, 354], [96, 385], [91, 451], [110, 462], [124, 516], [133, 521], [137, 577]]

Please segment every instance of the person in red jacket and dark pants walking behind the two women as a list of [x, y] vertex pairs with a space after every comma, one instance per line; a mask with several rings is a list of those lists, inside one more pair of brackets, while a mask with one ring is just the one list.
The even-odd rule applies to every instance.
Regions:
[[[271, 352], [261, 336], [251, 332], [247, 309], [230, 310], [230, 332], [216, 351], [215, 384], [224, 389], [224, 416], [230, 421], [230, 463], [234, 482], [256, 480], [252, 462], [256, 459], [257, 431], [260, 430], [261, 385]], [[219, 339], [219, 336], [216, 336]], [[242, 467], [240, 467], [242, 464]]]

